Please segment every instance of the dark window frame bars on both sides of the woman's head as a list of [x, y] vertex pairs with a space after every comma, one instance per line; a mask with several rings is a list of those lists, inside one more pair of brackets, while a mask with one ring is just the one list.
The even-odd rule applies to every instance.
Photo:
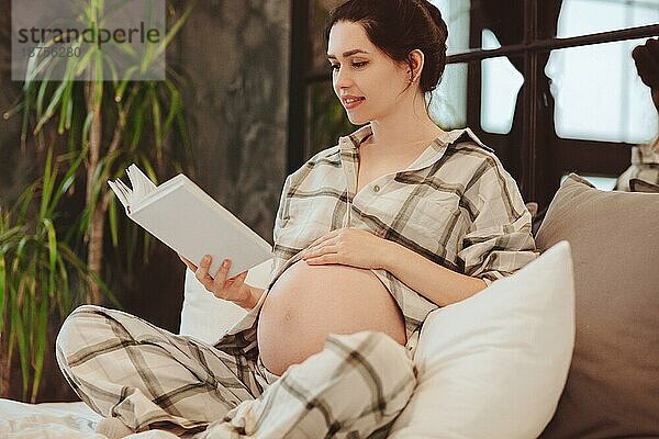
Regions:
[[[541, 81], [546, 80], [538, 60], [550, 50], [592, 44], [652, 37], [659, 35], [659, 24], [580, 35], [569, 38], [539, 38], [538, 0], [524, 0], [524, 40], [520, 44], [498, 49], [472, 49], [448, 57], [449, 64], [468, 63], [468, 110], [469, 126], [480, 127], [480, 63], [500, 56], [522, 56], [525, 83], [522, 88], [521, 115], [522, 138], [515, 150], [502, 159], [517, 179], [525, 200], [537, 201], [546, 206], [559, 185], [560, 177], [569, 171], [590, 175], [617, 176], [629, 164], [630, 146], [624, 143], [571, 140], [556, 136], [552, 109], [539, 104], [543, 101]], [[298, 169], [304, 161], [306, 136], [308, 86], [317, 81], [330, 81], [327, 74], [308, 71], [309, 59], [309, 0], [291, 0], [292, 36], [290, 65], [290, 110], [288, 171]], [[480, 31], [479, 31], [480, 32]], [[472, 35], [472, 38], [474, 35]], [[496, 149], [501, 136], [474, 130], [483, 140]], [[499, 153], [499, 150], [498, 150]], [[506, 154], [503, 154], [506, 157]]]

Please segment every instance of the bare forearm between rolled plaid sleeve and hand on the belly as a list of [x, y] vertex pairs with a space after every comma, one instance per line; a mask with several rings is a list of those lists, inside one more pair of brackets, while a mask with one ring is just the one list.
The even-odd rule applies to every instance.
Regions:
[[393, 241], [386, 241], [382, 268], [438, 306], [450, 305], [483, 290], [483, 280], [457, 273]]

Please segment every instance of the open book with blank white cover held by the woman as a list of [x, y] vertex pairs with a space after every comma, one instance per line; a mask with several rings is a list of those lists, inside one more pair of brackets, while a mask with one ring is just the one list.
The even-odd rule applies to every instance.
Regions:
[[126, 169], [131, 188], [108, 181], [126, 214], [179, 255], [199, 264], [211, 255], [209, 274], [231, 259], [228, 277], [271, 257], [271, 247], [182, 173], [155, 185], [134, 164]]

